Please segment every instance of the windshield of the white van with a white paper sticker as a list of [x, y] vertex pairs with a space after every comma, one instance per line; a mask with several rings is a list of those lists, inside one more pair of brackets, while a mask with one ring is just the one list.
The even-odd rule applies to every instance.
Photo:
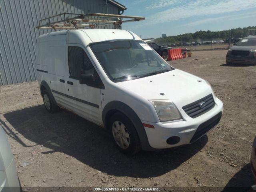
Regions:
[[113, 82], [143, 78], [174, 69], [143, 41], [98, 42], [90, 44], [90, 48]]

